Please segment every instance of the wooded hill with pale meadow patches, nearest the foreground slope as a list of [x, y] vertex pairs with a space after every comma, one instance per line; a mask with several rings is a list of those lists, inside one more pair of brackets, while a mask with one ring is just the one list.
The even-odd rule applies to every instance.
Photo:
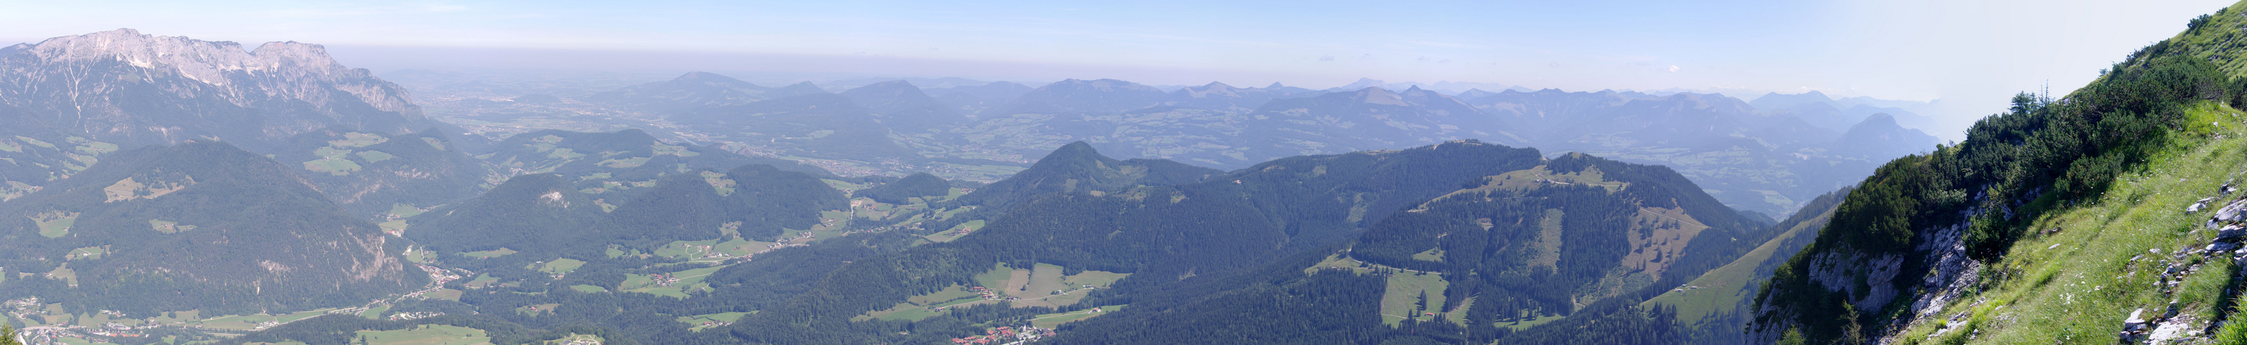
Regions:
[[1766, 226], [1667, 168], [1564, 155], [1393, 211], [1341, 249], [1146, 291], [1056, 341], [1679, 343], [1672, 309], [1631, 305], [1739, 258]]

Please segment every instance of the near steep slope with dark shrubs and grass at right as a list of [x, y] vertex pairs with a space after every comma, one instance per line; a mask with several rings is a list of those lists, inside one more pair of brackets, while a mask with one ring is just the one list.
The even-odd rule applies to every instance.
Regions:
[[1755, 341], [2240, 341], [2234, 9], [1885, 164], [1775, 269]]

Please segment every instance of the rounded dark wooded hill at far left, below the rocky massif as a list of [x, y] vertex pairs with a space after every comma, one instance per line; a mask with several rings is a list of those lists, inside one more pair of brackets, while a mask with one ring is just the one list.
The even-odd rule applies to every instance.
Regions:
[[[155, 316], [360, 305], [422, 287], [407, 244], [218, 141], [135, 148], [0, 208], [0, 291]], [[198, 296], [198, 298], [180, 298]]]

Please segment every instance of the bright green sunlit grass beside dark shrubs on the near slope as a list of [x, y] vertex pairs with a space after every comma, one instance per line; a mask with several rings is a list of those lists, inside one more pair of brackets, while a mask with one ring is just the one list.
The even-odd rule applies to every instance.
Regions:
[[[2114, 343], [2123, 318], [2144, 307], [2180, 305], [2180, 318], [2204, 327], [2220, 314], [2231, 260], [2204, 258], [2213, 231], [2202, 229], [2209, 211], [2186, 215], [2189, 204], [2216, 197], [2227, 181], [2247, 175], [2247, 121], [2238, 110], [2204, 103], [2189, 112], [2191, 128], [2144, 170], [2126, 172], [2090, 204], [2031, 202], [2031, 229], [2063, 229], [2013, 244], [1984, 276], [1991, 289], [1962, 296], [1941, 309], [1953, 323], [1903, 329], [1899, 343]], [[2222, 125], [2202, 125], [2222, 123]], [[2229, 199], [2229, 197], [2227, 197]], [[2189, 255], [2171, 255], [2193, 251]], [[2182, 258], [2182, 260], [2177, 260]], [[2155, 289], [2168, 264], [2193, 264], [2173, 291]], [[1953, 329], [1946, 329], [1953, 327]], [[2198, 329], [2198, 327], [2195, 327]], [[1977, 334], [1971, 336], [1968, 334]]]

